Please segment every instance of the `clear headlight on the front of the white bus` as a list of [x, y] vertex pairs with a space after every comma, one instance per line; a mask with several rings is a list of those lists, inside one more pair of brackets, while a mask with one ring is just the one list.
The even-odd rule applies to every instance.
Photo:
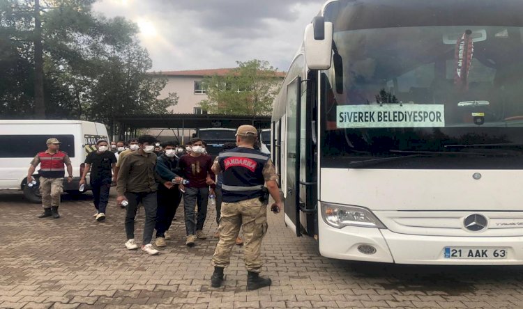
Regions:
[[343, 228], [347, 225], [386, 228], [369, 209], [363, 207], [321, 203], [321, 216], [325, 223], [334, 228]]

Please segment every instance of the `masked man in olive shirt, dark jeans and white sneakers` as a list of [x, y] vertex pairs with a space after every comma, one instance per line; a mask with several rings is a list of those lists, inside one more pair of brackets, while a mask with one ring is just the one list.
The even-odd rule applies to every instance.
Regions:
[[[154, 144], [156, 138], [151, 135], [142, 135], [138, 138], [138, 150], [130, 152], [120, 164], [118, 172], [118, 184], [116, 191], [118, 198], [116, 201], [128, 203], [126, 206], [126, 235], [128, 241], [126, 248], [129, 250], [137, 249], [135, 244], [135, 216], [138, 204], [141, 202], [145, 210], [144, 238], [142, 241], [142, 251], [149, 255], [158, 254], [158, 250], [153, 248], [154, 225], [156, 224], [156, 191], [158, 190], [158, 174], [156, 174], [156, 154]], [[165, 187], [172, 187], [172, 182], [165, 182]]]

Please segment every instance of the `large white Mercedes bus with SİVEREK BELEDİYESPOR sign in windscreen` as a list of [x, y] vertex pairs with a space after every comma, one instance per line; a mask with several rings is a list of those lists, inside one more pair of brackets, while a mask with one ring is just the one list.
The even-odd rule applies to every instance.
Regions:
[[327, 1], [271, 129], [285, 222], [321, 255], [523, 264], [520, 0]]

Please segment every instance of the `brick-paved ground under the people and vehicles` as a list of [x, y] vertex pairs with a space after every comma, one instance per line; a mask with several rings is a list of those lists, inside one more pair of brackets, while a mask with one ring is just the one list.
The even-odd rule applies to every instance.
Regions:
[[[0, 191], [0, 308], [523, 308], [523, 267], [414, 267], [322, 258], [268, 214], [264, 275], [273, 286], [245, 290], [241, 247], [225, 287], [209, 285], [216, 239], [183, 244], [183, 215], [158, 256], [127, 251], [123, 209], [93, 221], [89, 193], [63, 196], [62, 218]], [[211, 209], [205, 231], [216, 228]], [[137, 227], [143, 225], [143, 212]], [[137, 232], [137, 238], [141, 229]]]

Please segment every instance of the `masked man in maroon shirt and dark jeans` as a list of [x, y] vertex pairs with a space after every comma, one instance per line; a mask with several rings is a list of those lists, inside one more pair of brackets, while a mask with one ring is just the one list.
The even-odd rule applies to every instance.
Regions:
[[[200, 138], [192, 138], [189, 142], [191, 152], [180, 158], [180, 171], [189, 183], [183, 193], [183, 208], [185, 210], [185, 244], [194, 246], [196, 239], [206, 239], [203, 232], [209, 202], [209, 186], [214, 184], [212, 179], [213, 159], [205, 153], [204, 143]], [[196, 205], [198, 215], [196, 216]]]

